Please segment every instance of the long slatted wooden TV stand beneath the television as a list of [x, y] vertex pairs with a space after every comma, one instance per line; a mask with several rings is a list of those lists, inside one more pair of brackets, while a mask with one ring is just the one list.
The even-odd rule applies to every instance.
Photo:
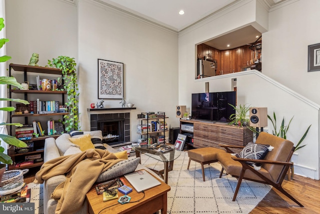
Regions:
[[[218, 145], [245, 146], [248, 142], [253, 142], [253, 132], [247, 127], [239, 127], [215, 121], [180, 119], [181, 134], [187, 133], [181, 130], [181, 124], [193, 124], [192, 147], [194, 148], [214, 147], [223, 149]], [[234, 151], [240, 152], [241, 149], [234, 149]]]

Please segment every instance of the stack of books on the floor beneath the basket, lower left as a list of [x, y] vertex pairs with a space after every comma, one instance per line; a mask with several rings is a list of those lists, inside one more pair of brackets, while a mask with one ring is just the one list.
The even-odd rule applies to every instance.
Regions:
[[[20, 188], [20, 186], [22, 186]], [[18, 190], [14, 191], [14, 188]], [[13, 190], [13, 192], [10, 191]], [[0, 203], [12, 203], [12, 202], [30, 202], [31, 189], [28, 189], [26, 183], [11, 183], [0, 187]], [[10, 192], [10, 193], [3, 193]]]

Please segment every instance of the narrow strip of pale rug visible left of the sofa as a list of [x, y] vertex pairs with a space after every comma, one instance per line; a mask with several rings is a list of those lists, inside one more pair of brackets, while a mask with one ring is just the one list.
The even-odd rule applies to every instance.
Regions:
[[44, 214], [43, 211], [43, 184], [28, 183], [31, 189], [30, 202], [34, 203], [34, 214]]

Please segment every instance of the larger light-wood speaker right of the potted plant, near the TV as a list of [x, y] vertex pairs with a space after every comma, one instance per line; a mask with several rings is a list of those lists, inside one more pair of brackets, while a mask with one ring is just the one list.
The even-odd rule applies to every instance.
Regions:
[[249, 111], [249, 126], [262, 128], [268, 125], [267, 108], [251, 107]]

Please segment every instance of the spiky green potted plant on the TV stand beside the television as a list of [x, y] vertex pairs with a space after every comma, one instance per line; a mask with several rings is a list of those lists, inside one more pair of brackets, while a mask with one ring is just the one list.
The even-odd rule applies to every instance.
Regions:
[[238, 108], [236, 108], [234, 105], [230, 103], [228, 104], [235, 110], [235, 113], [231, 114], [229, 117], [229, 119], [231, 120], [229, 124], [234, 124], [237, 126], [247, 126], [247, 124], [249, 123], [249, 116], [247, 113], [249, 112], [250, 107], [246, 106], [246, 104], [240, 104]]

